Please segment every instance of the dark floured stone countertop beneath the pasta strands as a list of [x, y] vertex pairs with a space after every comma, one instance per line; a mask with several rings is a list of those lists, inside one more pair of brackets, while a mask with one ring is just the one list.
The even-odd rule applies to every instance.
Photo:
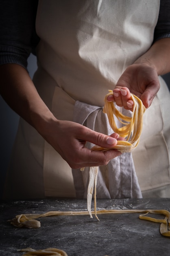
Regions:
[[[169, 211], [170, 198], [99, 199], [97, 209]], [[86, 210], [86, 200], [0, 201], [0, 256], [22, 256], [23, 253], [17, 250], [26, 247], [55, 247], [64, 250], [68, 256], [170, 255], [170, 237], [161, 236], [159, 223], [140, 220], [139, 213], [101, 214], [98, 215], [100, 221], [89, 215], [45, 217], [38, 219], [41, 221], [38, 229], [19, 229], [7, 222], [21, 213]]]

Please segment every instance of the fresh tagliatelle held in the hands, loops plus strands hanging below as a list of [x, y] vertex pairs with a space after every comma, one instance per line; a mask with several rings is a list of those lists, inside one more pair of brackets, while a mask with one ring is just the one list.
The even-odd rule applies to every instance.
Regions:
[[[118, 111], [118, 109], [115, 107], [112, 101], [111, 102], [107, 101], [107, 97], [109, 95], [113, 95], [113, 91], [109, 90], [109, 93], [105, 96], [105, 106], [103, 108], [103, 112], [107, 114], [109, 124], [112, 130], [114, 132], [117, 132], [120, 135], [120, 137], [126, 138], [126, 140], [124, 141], [118, 140], [118, 144], [113, 148], [121, 151], [122, 153], [131, 152], [139, 144], [139, 139], [142, 132], [143, 115], [146, 108], [143, 105], [141, 99], [131, 94], [131, 99], [133, 100], [133, 103], [134, 103], [132, 116], [131, 117], [125, 116], [120, 111]], [[117, 127], [115, 117], [120, 121], [121, 124], [123, 124], [121, 128]], [[106, 150], [110, 150], [111, 148], [102, 148], [96, 145], [91, 149], [106, 151]], [[83, 171], [83, 168], [81, 169], [81, 171]], [[98, 166], [90, 167], [89, 185], [88, 185], [88, 192], [87, 192], [87, 210], [89, 211], [89, 215], [91, 218], [93, 218], [91, 213], [91, 204], [92, 204], [92, 194], [93, 194], [94, 187], [95, 187], [94, 210], [96, 212], [97, 175], [98, 175]], [[98, 219], [97, 216], [96, 218]]]

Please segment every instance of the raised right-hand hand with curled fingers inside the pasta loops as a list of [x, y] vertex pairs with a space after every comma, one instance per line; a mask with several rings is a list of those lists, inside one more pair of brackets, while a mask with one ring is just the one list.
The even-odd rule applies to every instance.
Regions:
[[157, 71], [147, 64], [133, 64], [126, 68], [118, 80], [113, 96], [107, 98], [120, 107], [133, 110], [131, 93], [139, 97], [148, 108], [160, 88]]

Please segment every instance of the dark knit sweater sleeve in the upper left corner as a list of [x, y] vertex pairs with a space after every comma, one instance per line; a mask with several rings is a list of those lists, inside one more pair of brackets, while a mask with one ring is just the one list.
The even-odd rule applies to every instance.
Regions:
[[0, 1], [0, 65], [27, 67], [27, 58], [38, 42], [35, 33], [37, 0]]

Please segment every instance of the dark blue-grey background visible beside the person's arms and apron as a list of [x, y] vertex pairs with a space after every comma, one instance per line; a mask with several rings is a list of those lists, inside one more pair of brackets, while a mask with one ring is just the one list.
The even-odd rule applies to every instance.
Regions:
[[[30, 55], [28, 58], [28, 71], [33, 77], [37, 69], [36, 57]], [[170, 73], [163, 76], [170, 88]], [[169, 113], [168, 113], [169, 114]], [[2, 194], [2, 187], [4, 184], [4, 177], [9, 164], [10, 154], [15, 140], [19, 116], [9, 108], [7, 103], [0, 96], [0, 196]]]

